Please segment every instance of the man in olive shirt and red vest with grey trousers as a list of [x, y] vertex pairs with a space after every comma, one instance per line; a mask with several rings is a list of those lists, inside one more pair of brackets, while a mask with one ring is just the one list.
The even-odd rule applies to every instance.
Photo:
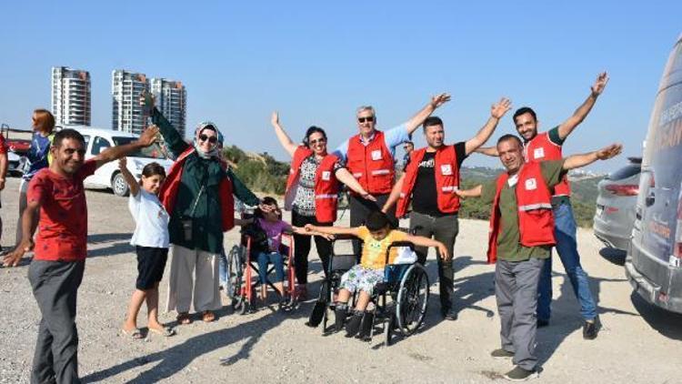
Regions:
[[567, 170], [615, 157], [622, 147], [612, 145], [585, 155], [527, 164], [517, 136], [500, 137], [496, 149], [506, 172], [485, 186], [457, 194], [494, 203], [488, 260], [497, 258], [495, 296], [502, 348], [491, 356], [514, 358], [516, 367], [505, 378], [523, 380], [537, 377], [537, 281], [556, 242], [549, 191]]

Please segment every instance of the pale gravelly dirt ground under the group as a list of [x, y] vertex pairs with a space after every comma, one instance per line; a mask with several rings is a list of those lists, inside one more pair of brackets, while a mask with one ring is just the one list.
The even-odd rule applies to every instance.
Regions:
[[[5, 224], [2, 244], [15, 238], [18, 179], [2, 192]], [[238, 315], [223, 308], [214, 323], [195, 321], [177, 335], [145, 340], [124, 337], [120, 326], [135, 288], [134, 249], [128, 244], [133, 221], [125, 198], [90, 191], [88, 261], [79, 291], [77, 325], [80, 375], [85, 382], [472, 382], [499, 381], [509, 361], [491, 359], [499, 347], [499, 319], [493, 291], [493, 267], [485, 263], [487, 223], [461, 220], [455, 248], [456, 321], [439, 315], [436, 262], [429, 258], [431, 299], [424, 327], [412, 337], [384, 347], [381, 335], [371, 343], [324, 337], [304, 323], [312, 300], [292, 312], [275, 305]], [[346, 214], [347, 220], [347, 214]], [[237, 232], [226, 236], [226, 247]], [[555, 258], [552, 323], [538, 330], [542, 372], [536, 382], [679, 383], [682, 316], [647, 305], [633, 294], [623, 257], [608, 250], [591, 230], [580, 229], [583, 266], [604, 324], [596, 340], [582, 338], [576, 298]], [[312, 257], [311, 279], [320, 277]], [[40, 314], [20, 268], [0, 269], [0, 382], [27, 382]], [[167, 276], [167, 268], [166, 275]], [[162, 282], [161, 304], [166, 286]], [[227, 299], [224, 302], [227, 304]], [[162, 321], [175, 324], [175, 314]], [[138, 320], [145, 326], [145, 309]]]

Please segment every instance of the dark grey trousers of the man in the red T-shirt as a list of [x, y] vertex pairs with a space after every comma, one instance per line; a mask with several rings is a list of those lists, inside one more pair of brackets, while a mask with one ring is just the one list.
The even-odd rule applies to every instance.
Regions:
[[35, 343], [32, 383], [79, 383], [75, 302], [83, 261], [33, 260], [28, 268], [35, 301], [43, 316]]

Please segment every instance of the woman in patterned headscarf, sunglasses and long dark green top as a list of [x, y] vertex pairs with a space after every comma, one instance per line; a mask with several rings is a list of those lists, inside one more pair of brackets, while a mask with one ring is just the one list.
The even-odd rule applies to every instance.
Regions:
[[256, 206], [259, 201], [221, 160], [215, 124], [201, 123], [193, 143], [187, 144], [155, 108], [151, 95], [145, 94], [141, 101], [145, 115], [151, 116], [177, 157], [159, 191], [170, 214], [171, 272], [166, 310], [176, 310], [178, 323], [184, 325], [191, 323], [189, 309], [194, 305], [202, 320], [210, 322], [222, 307], [218, 256], [223, 249], [223, 233], [234, 227], [233, 194], [247, 205]]

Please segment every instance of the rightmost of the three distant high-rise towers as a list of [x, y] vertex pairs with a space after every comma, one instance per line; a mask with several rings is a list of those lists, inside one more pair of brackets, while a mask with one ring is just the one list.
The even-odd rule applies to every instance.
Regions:
[[187, 106], [185, 86], [179, 81], [155, 77], [151, 81], [151, 92], [155, 97], [158, 110], [180, 132], [180, 135], [185, 137]]

